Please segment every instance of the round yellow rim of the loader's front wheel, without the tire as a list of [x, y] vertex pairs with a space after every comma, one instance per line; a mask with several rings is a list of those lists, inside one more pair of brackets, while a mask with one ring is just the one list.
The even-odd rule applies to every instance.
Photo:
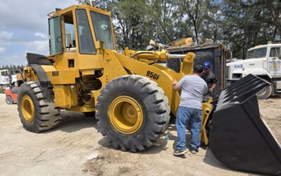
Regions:
[[107, 113], [113, 127], [123, 134], [133, 134], [143, 124], [142, 108], [130, 96], [118, 96], [110, 104]]

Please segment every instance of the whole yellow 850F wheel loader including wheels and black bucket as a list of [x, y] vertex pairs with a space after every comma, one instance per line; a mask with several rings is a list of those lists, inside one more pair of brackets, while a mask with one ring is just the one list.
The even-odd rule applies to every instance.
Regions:
[[[180, 94], [172, 82], [192, 74], [195, 54], [128, 48], [119, 54], [110, 12], [94, 6], [56, 9], [48, 16], [50, 55], [27, 54], [18, 93], [23, 127], [50, 130], [60, 122], [60, 109], [96, 112], [99, 132], [115, 149], [136, 152], [155, 144], [170, 114], [176, 116]], [[180, 73], [157, 64], [173, 58], [183, 58]], [[280, 175], [280, 146], [260, 120], [255, 95], [269, 83], [245, 79], [203, 103], [202, 142], [230, 168]]]

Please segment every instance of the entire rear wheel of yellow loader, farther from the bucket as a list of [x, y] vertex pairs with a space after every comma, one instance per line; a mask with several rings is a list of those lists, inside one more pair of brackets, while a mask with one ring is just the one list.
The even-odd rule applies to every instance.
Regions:
[[60, 122], [60, 109], [53, 102], [51, 87], [25, 82], [18, 91], [18, 113], [23, 127], [30, 132], [50, 130]]

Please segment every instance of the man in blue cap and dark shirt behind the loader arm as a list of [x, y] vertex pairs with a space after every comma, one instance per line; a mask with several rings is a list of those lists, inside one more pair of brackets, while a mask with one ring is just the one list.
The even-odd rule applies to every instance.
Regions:
[[214, 89], [216, 88], [216, 76], [214, 73], [211, 73], [211, 63], [205, 62], [204, 63], [204, 73], [202, 75], [202, 79], [207, 83], [209, 92], [214, 92]]

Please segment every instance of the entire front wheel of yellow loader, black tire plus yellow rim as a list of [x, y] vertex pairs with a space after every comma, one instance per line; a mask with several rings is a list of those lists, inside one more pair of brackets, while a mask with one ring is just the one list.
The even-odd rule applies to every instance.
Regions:
[[169, 125], [170, 107], [163, 89], [138, 75], [107, 83], [96, 110], [99, 132], [122, 151], [143, 151], [157, 142]]

